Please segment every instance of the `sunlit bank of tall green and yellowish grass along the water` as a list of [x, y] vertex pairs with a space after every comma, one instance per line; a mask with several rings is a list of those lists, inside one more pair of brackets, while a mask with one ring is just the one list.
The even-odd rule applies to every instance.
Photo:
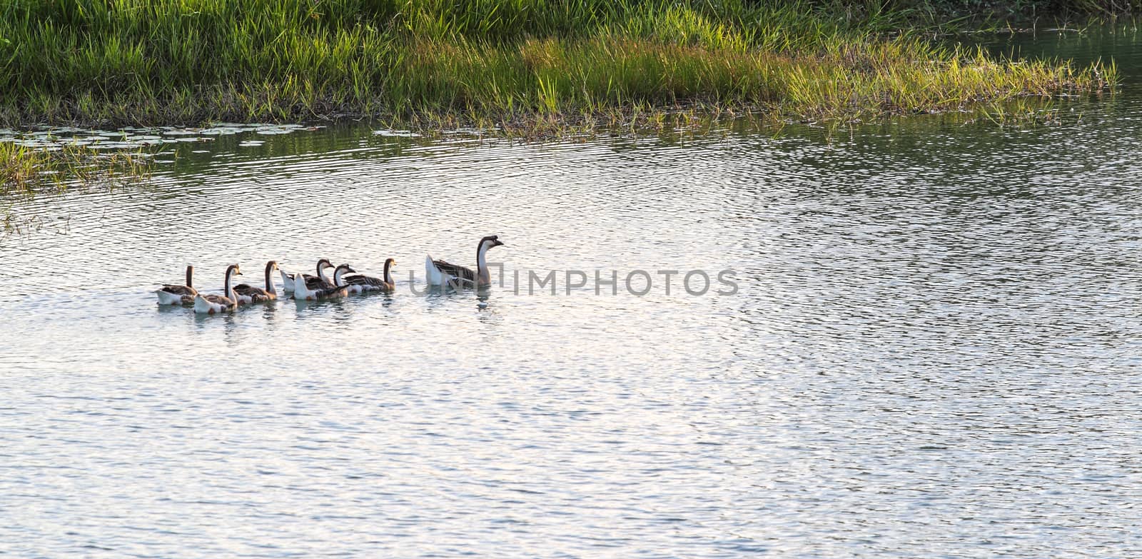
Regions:
[[2, 0], [0, 121], [525, 122], [695, 106], [858, 119], [1101, 91], [1115, 79], [1112, 67], [1014, 63], [885, 38], [868, 14], [842, 17], [850, 8]]

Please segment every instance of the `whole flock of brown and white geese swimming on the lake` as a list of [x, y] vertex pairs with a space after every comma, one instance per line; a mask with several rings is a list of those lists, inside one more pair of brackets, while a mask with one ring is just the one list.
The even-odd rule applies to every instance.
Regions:
[[[476, 245], [476, 270], [450, 264], [444, 261], [433, 259], [432, 256], [425, 258], [425, 275], [429, 286], [467, 288], [480, 287], [491, 284], [488, 273], [488, 250], [502, 246], [497, 235], [488, 235], [480, 239]], [[274, 272], [281, 274], [282, 290], [292, 293], [298, 301], [317, 301], [323, 298], [345, 297], [351, 293], [387, 292], [392, 293], [396, 288], [393, 281], [393, 264], [396, 261], [388, 258], [385, 261], [385, 270], [380, 278], [356, 273], [353, 266], [341, 264], [333, 266], [328, 258], [317, 261], [316, 275], [308, 273], [287, 273], [278, 267], [278, 261], [266, 263], [266, 286], [255, 287], [249, 284], [232, 285], [234, 275], [242, 275], [242, 270], [238, 264], [226, 267], [226, 279], [223, 284], [223, 295], [201, 294], [194, 288], [194, 266], [186, 266], [186, 285], [164, 285], [158, 289], [160, 305], [193, 305], [194, 312], [201, 314], [215, 314], [218, 312], [230, 312], [238, 309], [238, 305], [251, 303], [265, 303], [278, 298], [278, 289], [274, 286]], [[332, 281], [325, 275], [325, 270], [333, 269]]]

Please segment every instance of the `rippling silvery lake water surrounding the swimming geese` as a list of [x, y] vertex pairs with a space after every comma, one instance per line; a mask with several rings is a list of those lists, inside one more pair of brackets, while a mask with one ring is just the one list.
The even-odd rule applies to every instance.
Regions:
[[[1139, 557], [1142, 41], [1015, 42], [1125, 83], [1062, 126], [243, 131], [37, 199], [0, 241], [0, 554]], [[421, 293], [493, 233], [502, 285]], [[151, 294], [319, 257], [397, 292]]]

